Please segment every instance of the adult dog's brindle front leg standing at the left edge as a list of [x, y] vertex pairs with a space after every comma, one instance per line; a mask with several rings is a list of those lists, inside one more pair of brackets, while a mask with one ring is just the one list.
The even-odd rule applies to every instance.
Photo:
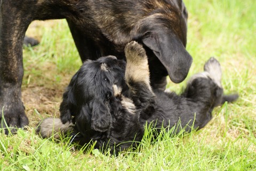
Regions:
[[0, 128], [28, 125], [21, 101], [21, 84], [22, 44], [30, 19], [22, 7], [22, 1], [1, 1], [0, 4]]

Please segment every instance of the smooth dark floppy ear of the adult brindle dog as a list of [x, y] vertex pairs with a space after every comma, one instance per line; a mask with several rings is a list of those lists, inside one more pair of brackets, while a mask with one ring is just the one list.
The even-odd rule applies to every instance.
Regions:
[[162, 62], [172, 82], [180, 83], [187, 77], [193, 59], [171, 31], [168, 34], [148, 31], [142, 42]]

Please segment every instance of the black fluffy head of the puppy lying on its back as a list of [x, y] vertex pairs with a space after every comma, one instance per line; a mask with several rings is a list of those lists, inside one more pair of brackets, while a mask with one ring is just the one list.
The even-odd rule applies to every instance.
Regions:
[[111, 123], [110, 101], [124, 87], [125, 62], [115, 56], [86, 61], [70, 81], [60, 105], [62, 123], [73, 121], [80, 132], [105, 132]]

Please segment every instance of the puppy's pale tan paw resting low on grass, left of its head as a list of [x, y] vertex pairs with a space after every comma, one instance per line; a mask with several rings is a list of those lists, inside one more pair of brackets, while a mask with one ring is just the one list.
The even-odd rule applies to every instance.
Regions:
[[74, 124], [72, 123], [62, 124], [60, 118], [45, 118], [38, 124], [36, 134], [41, 135], [43, 138], [54, 136], [55, 139], [58, 139], [60, 135], [72, 132], [73, 126]]

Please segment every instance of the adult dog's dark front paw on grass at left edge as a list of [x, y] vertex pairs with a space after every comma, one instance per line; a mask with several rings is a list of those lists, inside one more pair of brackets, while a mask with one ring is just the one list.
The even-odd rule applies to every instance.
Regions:
[[17, 132], [17, 128], [23, 128], [28, 125], [28, 118], [24, 107], [21, 104], [11, 103], [10, 105], [0, 105], [0, 128], [3, 128], [5, 134]]

